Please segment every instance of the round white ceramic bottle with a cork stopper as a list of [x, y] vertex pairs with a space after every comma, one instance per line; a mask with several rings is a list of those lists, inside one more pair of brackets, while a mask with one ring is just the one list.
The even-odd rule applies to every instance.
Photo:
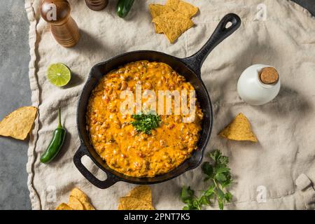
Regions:
[[237, 83], [237, 92], [244, 102], [251, 105], [263, 105], [279, 94], [280, 76], [272, 66], [254, 64], [243, 73]]

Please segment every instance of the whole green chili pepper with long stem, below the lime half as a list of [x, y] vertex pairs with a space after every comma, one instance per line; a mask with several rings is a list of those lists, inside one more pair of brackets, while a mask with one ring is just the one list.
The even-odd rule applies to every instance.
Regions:
[[64, 139], [66, 138], [66, 129], [61, 125], [61, 115], [60, 115], [60, 107], [59, 107], [59, 125], [55, 132], [53, 133], [52, 140], [45, 153], [41, 155], [41, 162], [49, 163], [51, 160], [55, 158], [55, 156], [59, 153], [62, 145], [64, 144]]

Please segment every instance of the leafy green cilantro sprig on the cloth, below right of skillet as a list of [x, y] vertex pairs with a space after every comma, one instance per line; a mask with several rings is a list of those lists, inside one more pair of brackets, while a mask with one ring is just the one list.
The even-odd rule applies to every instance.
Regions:
[[218, 202], [219, 209], [223, 210], [226, 202], [231, 202], [232, 194], [226, 190], [232, 183], [228, 157], [221, 151], [213, 151], [208, 154], [210, 162], [204, 162], [202, 172], [206, 175], [204, 181], [209, 183], [207, 190], [200, 197], [195, 196], [195, 191], [184, 186], [181, 189], [181, 200], [186, 204], [184, 210], [201, 210], [203, 206]]

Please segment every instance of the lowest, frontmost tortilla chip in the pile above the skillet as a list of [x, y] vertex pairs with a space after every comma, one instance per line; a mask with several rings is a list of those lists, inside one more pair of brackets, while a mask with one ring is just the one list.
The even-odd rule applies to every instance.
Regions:
[[171, 43], [174, 43], [183, 32], [194, 25], [193, 21], [189, 18], [176, 13], [159, 15], [157, 18], [153, 19], [153, 22], [162, 29]]

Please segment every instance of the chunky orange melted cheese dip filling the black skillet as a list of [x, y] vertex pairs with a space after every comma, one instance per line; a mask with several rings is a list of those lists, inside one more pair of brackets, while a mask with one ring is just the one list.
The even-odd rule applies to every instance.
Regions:
[[[190, 158], [197, 149], [203, 113], [196, 103], [192, 123], [182, 123], [182, 116], [172, 113], [160, 116], [160, 126], [151, 134], [137, 132], [130, 124], [132, 116], [120, 113], [120, 92], [135, 93], [137, 84], [143, 91], [153, 90], [157, 101], [158, 90], [194, 90], [167, 64], [126, 64], [107, 73], [93, 90], [87, 106], [87, 131], [95, 151], [111, 169], [127, 176], [153, 177], [170, 172]], [[174, 111], [174, 103], [172, 107]]]

